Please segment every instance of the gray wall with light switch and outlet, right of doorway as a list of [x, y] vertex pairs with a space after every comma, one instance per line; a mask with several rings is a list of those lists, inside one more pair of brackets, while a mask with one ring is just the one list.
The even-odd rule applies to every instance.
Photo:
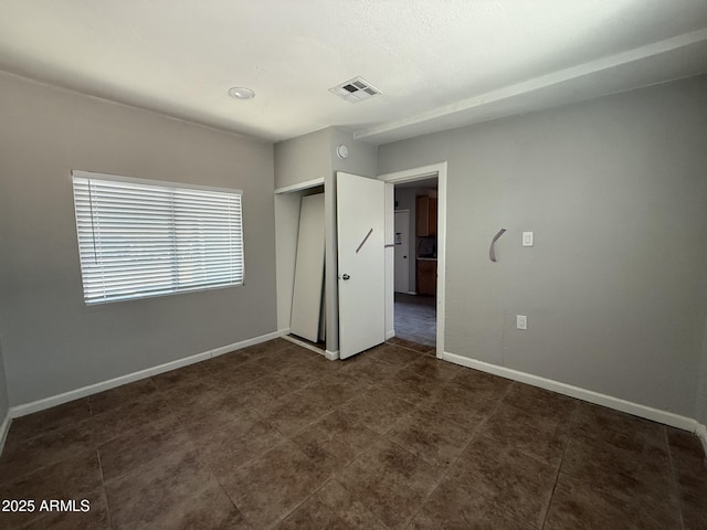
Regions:
[[694, 417], [706, 138], [703, 76], [380, 147], [449, 161], [446, 350]]

